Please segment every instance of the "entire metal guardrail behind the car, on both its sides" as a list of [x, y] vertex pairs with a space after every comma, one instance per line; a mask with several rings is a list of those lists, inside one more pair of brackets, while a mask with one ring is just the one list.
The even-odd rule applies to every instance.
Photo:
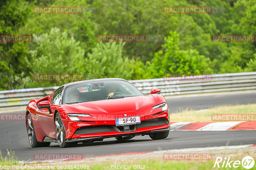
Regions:
[[[161, 89], [163, 96], [208, 92], [256, 89], [256, 72], [212, 74], [203, 77], [165, 77], [131, 80], [140, 91], [148, 95], [151, 89]], [[32, 99], [51, 94], [58, 87], [0, 91], [0, 110], [25, 108]]]

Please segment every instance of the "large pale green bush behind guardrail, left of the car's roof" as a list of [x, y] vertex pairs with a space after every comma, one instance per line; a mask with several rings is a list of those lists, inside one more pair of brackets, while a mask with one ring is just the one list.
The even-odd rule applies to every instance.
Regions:
[[80, 42], [68, 37], [67, 32], [52, 28], [41, 36], [33, 35], [34, 46], [27, 87], [59, 86], [63, 81], [33, 81], [34, 74], [85, 74], [84, 49]]

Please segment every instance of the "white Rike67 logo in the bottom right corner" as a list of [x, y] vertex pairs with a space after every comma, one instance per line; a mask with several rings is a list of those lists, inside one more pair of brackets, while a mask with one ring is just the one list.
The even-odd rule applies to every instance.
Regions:
[[242, 165], [245, 169], [251, 169], [254, 166], [254, 163], [254, 159], [251, 156], [245, 156], [242, 159], [242, 162], [240, 160], [230, 160], [230, 157], [228, 157], [228, 159], [227, 157], [225, 157], [224, 159], [222, 159], [221, 157], [217, 157], [213, 167], [237, 168]]

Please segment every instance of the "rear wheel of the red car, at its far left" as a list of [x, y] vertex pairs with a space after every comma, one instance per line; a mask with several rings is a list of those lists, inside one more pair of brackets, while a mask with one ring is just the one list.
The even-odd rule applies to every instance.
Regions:
[[34, 124], [33, 124], [30, 113], [27, 116], [27, 131], [28, 131], [28, 141], [30, 146], [32, 148], [40, 147], [42, 145], [42, 142], [38, 142], [36, 140], [35, 128], [34, 128]]

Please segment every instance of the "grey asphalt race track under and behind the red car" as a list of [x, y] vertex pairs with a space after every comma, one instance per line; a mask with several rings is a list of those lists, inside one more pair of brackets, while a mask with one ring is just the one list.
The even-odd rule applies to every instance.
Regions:
[[[256, 92], [171, 97], [167, 98], [167, 102], [171, 112], [186, 108], [201, 110], [216, 105], [256, 103]], [[0, 133], [0, 149], [3, 156], [6, 156], [6, 149], [8, 149], [14, 151], [15, 156], [20, 160], [25, 161], [33, 161], [33, 155], [37, 153], [81, 153], [83, 157], [89, 157], [127, 152], [225, 146], [227, 144], [256, 144], [255, 131], [170, 131], [168, 138], [157, 141], [151, 140], [149, 136], [137, 136], [121, 143], [118, 143], [115, 138], [108, 138], [102, 142], [78, 144], [71, 148], [60, 148], [56, 143], [52, 143], [50, 147], [31, 148], [25, 121], [0, 121]]]

